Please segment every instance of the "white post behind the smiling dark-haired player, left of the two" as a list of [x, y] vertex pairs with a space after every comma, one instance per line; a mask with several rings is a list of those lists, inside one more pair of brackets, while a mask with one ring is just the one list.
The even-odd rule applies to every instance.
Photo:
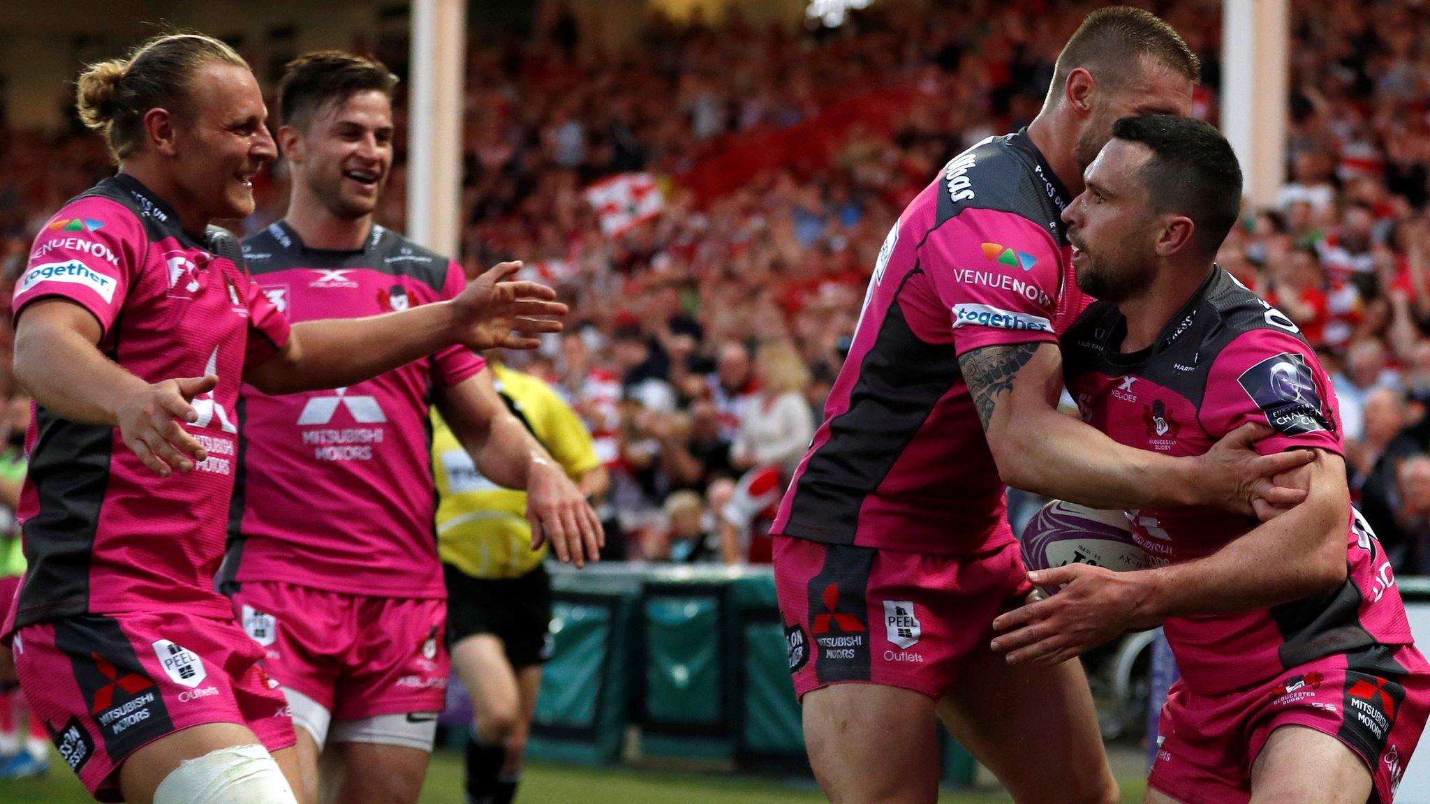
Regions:
[[412, 3], [408, 236], [460, 258], [468, 0]]

